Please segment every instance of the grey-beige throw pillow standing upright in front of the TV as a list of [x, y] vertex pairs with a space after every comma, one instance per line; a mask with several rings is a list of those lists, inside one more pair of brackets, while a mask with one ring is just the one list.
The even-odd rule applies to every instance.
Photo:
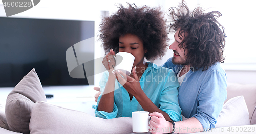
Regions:
[[11, 131], [30, 133], [30, 112], [37, 100], [46, 101], [46, 96], [35, 69], [32, 69], [7, 97], [5, 113]]

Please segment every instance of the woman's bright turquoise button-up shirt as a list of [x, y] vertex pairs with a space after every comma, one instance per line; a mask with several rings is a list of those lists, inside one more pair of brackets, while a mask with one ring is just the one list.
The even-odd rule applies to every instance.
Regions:
[[[158, 67], [154, 63], [148, 62], [148, 67], [140, 79], [141, 89], [148, 98], [162, 111], [166, 112], [174, 121], [181, 120], [181, 109], [178, 102], [179, 83], [173, 70], [164, 67]], [[108, 73], [105, 72], [101, 81], [101, 95], [105, 89]], [[136, 98], [130, 101], [128, 92], [116, 80], [114, 91], [114, 109], [113, 112], [98, 111], [97, 105], [93, 105], [95, 116], [105, 119], [115, 117], [132, 117], [133, 111], [144, 111]]]

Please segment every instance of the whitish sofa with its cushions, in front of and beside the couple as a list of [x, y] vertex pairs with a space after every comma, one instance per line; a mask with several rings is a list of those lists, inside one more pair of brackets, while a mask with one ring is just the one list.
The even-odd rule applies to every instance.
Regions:
[[[256, 85], [228, 83], [227, 92], [217, 128], [208, 133], [256, 133]], [[0, 133], [132, 133], [131, 118], [105, 120], [47, 103], [34, 69], [8, 95], [5, 107], [0, 104]]]

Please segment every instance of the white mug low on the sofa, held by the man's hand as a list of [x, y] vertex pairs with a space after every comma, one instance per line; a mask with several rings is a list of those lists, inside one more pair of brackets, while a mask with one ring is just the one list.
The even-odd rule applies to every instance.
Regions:
[[148, 132], [148, 124], [150, 112], [148, 111], [135, 111], [132, 112], [132, 120], [133, 120], [133, 132]]

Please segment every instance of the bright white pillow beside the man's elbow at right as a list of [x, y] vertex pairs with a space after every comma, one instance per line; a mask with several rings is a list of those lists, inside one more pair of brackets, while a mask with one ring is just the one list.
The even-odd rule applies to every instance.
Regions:
[[228, 100], [217, 118], [215, 127], [249, 125], [249, 113], [243, 96]]

